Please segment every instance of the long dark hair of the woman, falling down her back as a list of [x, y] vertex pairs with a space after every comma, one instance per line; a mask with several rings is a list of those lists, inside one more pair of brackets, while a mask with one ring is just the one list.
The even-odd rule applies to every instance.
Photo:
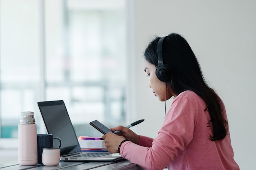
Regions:
[[[144, 52], [147, 62], [158, 66], [157, 42], [160, 38], [150, 42]], [[169, 67], [171, 77], [167, 83], [173, 93], [179, 95], [184, 91], [193, 91], [206, 103], [205, 111], [209, 110], [211, 121], [208, 123], [212, 130], [212, 141], [222, 140], [227, 135], [228, 122], [223, 115], [222, 101], [210, 88], [203, 75], [191, 47], [179, 34], [171, 33], [163, 41], [162, 56], [164, 64]]]

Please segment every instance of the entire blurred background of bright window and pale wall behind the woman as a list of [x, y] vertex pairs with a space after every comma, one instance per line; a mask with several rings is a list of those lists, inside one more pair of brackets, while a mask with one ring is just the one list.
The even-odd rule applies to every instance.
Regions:
[[[176, 32], [223, 99], [241, 170], [256, 152], [255, 0], [0, 0], [0, 163], [18, 158], [20, 112], [63, 100], [76, 135], [101, 136], [89, 122], [156, 137], [164, 102], [148, 88], [143, 52]], [[173, 99], [167, 101], [166, 110]]]

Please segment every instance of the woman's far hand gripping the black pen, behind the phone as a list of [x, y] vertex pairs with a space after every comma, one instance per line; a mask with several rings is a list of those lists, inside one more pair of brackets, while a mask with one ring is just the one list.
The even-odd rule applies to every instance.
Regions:
[[135, 144], [139, 144], [139, 135], [137, 135], [129, 128], [126, 128], [124, 126], [118, 126], [116, 128], [110, 128], [110, 130], [112, 132], [114, 132], [115, 130], [120, 130], [121, 132], [117, 133], [117, 135], [130, 139], [130, 141], [132, 141]]

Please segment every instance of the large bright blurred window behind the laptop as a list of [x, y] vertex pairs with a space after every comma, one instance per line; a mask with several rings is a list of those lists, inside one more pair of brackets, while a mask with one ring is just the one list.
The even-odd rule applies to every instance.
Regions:
[[[0, 0], [0, 136], [18, 137], [20, 112], [64, 100], [76, 135], [101, 135], [126, 115], [124, 0]], [[93, 129], [93, 130], [92, 130]]]

